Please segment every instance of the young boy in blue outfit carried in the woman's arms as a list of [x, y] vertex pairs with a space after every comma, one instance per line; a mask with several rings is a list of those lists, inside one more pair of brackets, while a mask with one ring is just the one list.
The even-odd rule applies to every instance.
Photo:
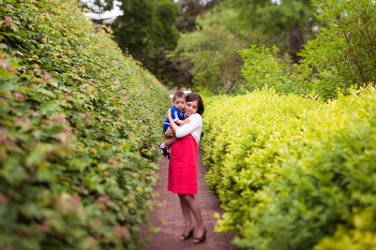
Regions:
[[[172, 119], [174, 119], [174, 122], [179, 126], [181, 126], [185, 123], [189, 123], [191, 121], [190, 119], [184, 120], [184, 117], [185, 117], [185, 113], [184, 113], [185, 94], [184, 94], [184, 92], [183, 91], [176, 91], [176, 93], [174, 94], [174, 97], [172, 99], [172, 102], [174, 103], [174, 105], [171, 108], [171, 115], [172, 115]], [[166, 121], [163, 124], [163, 132], [166, 132], [166, 130], [170, 126], [171, 126], [171, 124], [170, 124], [170, 122], [167, 118]], [[169, 138], [167, 136], [165, 136], [165, 142], [163, 142], [162, 144], [160, 144], [158, 146], [159, 150], [161, 151], [161, 153], [163, 154], [164, 157], [170, 159], [169, 149], [171, 148], [171, 145], [175, 141], [176, 141], [175, 136], [169, 137]]]

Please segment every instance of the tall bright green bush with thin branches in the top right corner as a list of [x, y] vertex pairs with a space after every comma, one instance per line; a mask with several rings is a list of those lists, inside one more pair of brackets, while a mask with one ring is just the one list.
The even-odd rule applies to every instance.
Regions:
[[[307, 43], [302, 76], [318, 93], [334, 96], [336, 89], [376, 82], [376, 6], [367, 0], [312, 1], [326, 25]], [[328, 82], [330, 84], [328, 84]], [[374, 86], [374, 85], [373, 85]]]

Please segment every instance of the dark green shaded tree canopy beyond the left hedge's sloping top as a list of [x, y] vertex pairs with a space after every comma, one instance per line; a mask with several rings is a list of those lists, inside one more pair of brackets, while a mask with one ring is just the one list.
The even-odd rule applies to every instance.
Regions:
[[175, 28], [178, 4], [169, 0], [122, 0], [111, 25], [115, 41], [123, 52], [143, 62], [156, 49], [174, 49], [179, 38]]

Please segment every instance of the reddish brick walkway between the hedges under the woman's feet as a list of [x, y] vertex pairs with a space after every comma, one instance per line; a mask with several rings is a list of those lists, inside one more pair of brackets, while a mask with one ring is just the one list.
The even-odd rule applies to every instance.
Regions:
[[[231, 233], [213, 232], [216, 224], [216, 219], [213, 218], [213, 213], [218, 212], [222, 214], [220, 208], [220, 201], [207, 190], [206, 183], [204, 183], [204, 175], [207, 167], [202, 162], [202, 153], [199, 153], [199, 184], [198, 199], [201, 207], [202, 218], [206, 227], [206, 240], [201, 244], [194, 244], [193, 239], [180, 241], [179, 236], [184, 230], [184, 218], [182, 215], [180, 201], [177, 194], [167, 191], [168, 183], [168, 163], [169, 161], [163, 158], [160, 164], [158, 183], [154, 187], [154, 191], [160, 194], [156, 199], [163, 204], [163, 206], [155, 207], [155, 211], [151, 215], [151, 226], [143, 225], [140, 232], [147, 245], [145, 250], [239, 250], [237, 246], [231, 244], [233, 235]], [[192, 215], [192, 219], [194, 217]], [[156, 233], [149, 232], [149, 227], [158, 227], [160, 231]]]

